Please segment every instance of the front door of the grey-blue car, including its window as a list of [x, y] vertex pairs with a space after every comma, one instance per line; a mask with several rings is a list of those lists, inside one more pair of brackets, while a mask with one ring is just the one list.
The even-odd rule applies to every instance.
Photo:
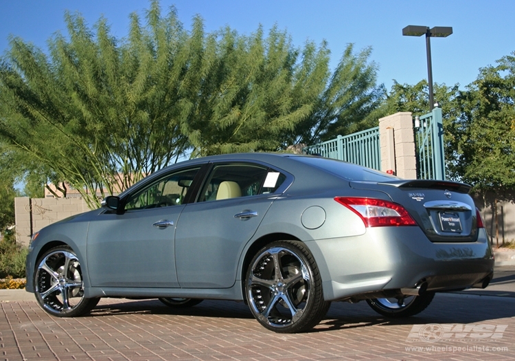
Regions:
[[104, 213], [88, 232], [93, 287], [179, 287], [174, 232], [200, 167], [168, 173], [121, 199], [123, 214]]

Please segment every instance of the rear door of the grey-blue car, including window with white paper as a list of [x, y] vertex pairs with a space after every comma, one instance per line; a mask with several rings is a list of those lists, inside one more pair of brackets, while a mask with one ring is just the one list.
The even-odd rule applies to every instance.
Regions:
[[258, 229], [286, 176], [260, 164], [214, 164], [175, 234], [181, 287], [231, 287], [244, 245]]

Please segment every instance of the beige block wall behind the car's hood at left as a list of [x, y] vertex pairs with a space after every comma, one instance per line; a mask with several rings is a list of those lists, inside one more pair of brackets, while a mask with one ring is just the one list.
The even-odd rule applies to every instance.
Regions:
[[82, 198], [17, 197], [14, 199], [16, 243], [28, 245], [32, 233], [50, 223], [88, 210]]

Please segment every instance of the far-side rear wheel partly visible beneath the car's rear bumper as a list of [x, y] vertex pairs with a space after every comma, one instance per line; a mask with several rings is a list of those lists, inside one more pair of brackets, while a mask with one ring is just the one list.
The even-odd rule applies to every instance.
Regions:
[[428, 307], [434, 296], [435, 292], [425, 292], [420, 296], [374, 298], [367, 300], [367, 303], [378, 314], [382, 314], [382, 316], [402, 318], [420, 314]]

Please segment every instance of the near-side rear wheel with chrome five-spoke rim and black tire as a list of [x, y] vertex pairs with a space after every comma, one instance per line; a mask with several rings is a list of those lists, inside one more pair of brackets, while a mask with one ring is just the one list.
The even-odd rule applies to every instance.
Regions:
[[327, 313], [313, 256], [299, 241], [275, 241], [253, 257], [245, 281], [253, 316], [279, 333], [312, 329]]

